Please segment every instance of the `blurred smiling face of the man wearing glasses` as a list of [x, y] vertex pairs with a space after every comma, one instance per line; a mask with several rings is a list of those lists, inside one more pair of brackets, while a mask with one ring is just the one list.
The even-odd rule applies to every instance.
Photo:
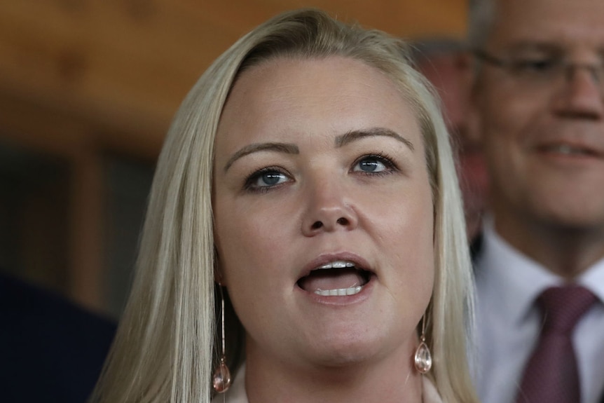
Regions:
[[497, 231], [512, 244], [529, 228], [601, 236], [604, 1], [498, 1], [482, 50], [507, 66], [481, 64], [472, 102]]

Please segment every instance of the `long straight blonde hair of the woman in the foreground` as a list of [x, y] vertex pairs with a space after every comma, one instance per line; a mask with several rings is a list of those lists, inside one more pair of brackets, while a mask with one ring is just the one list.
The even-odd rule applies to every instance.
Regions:
[[[472, 273], [448, 133], [406, 45], [317, 10], [278, 15], [242, 37], [187, 95], [158, 160], [137, 274], [94, 402], [210, 402], [216, 362], [212, 163], [221, 111], [245, 69], [275, 57], [350, 57], [390, 77], [416, 112], [434, 200], [436, 275], [427, 343], [446, 402], [476, 402], [466, 360]], [[231, 321], [236, 318], [231, 317]], [[237, 340], [233, 346], [241, 348]], [[227, 350], [235, 356], [241, 350]], [[231, 365], [237, 365], [238, 359]], [[231, 367], [231, 370], [235, 369]]]

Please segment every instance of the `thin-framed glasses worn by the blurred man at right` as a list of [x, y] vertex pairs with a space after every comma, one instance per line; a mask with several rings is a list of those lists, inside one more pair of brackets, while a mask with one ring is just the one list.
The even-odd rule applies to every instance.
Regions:
[[484, 50], [474, 50], [474, 56], [504, 69], [516, 78], [526, 88], [551, 88], [559, 83], [568, 83], [572, 80], [577, 70], [583, 69], [589, 72], [593, 83], [604, 93], [604, 64], [584, 64], [568, 62], [563, 57], [540, 56], [540, 57], [509, 57], [507, 59], [495, 57]]

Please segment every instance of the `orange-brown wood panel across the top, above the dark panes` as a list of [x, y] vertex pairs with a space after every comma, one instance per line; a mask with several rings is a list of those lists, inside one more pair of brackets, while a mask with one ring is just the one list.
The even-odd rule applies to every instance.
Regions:
[[0, 97], [38, 109], [58, 105], [126, 136], [146, 132], [158, 146], [217, 55], [263, 20], [300, 6], [398, 36], [459, 36], [465, 27], [461, 0], [8, 0], [0, 4]]

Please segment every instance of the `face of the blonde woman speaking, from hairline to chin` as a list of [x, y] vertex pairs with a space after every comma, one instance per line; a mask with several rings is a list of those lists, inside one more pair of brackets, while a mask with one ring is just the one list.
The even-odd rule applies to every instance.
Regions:
[[432, 196], [418, 121], [384, 74], [343, 57], [242, 74], [213, 207], [248, 360], [409, 361], [434, 282]]

